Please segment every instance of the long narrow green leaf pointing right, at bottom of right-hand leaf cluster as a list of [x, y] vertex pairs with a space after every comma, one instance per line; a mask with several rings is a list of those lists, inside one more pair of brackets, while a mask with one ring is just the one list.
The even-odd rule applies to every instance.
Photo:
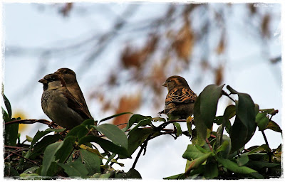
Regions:
[[246, 166], [239, 166], [237, 163], [230, 161], [229, 159], [223, 159], [217, 156], [217, 161], [222, 164], [225, 168], [229, 169], [234, 173], [257, 173], [257, 171], [253, 170], [252, 168], [248, 168]]

